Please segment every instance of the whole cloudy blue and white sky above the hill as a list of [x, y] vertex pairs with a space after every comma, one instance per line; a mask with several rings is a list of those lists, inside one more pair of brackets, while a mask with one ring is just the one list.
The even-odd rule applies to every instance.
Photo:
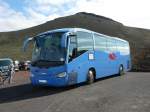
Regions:
[[88, 12], [124, 25], [150, 29], [150, 0], [0, 0], [0, 32]]

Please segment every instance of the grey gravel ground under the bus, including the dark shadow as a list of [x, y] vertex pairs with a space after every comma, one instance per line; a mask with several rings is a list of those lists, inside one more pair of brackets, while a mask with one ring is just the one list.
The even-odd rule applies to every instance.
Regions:
[[129, 72], [91, 85], [66, 88], [30, 85], [28, 72], [0, 87], [0, 112], [150, 112], [150, 73]]

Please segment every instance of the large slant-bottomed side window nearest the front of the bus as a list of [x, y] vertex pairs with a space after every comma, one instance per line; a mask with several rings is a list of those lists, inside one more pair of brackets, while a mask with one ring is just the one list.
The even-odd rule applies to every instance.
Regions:
[[77, 32], [77, 43], [79, 55], [87, 50], [93, 50], [93, 37], [92, 33]]

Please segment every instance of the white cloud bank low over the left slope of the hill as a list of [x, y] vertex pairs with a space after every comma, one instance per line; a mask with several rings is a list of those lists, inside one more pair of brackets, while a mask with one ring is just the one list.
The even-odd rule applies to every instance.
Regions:
[[24, 8], [26, 14], [23, 12], [13, 10], [7, 3], [0, 4], [0, 32], [20, 30], [42, 24], [48, 20], [59, 17], [57, 14], [46, 16], [33, 10], [30, 7]]

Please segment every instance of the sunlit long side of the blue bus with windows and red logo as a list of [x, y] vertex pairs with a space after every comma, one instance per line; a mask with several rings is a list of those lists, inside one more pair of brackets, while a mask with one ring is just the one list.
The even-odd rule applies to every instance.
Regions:
[[69, 58], [72, 58], [69, 59], [67, 70], [69, 77], [73, 74], [72, 77], [77, 78], [77, 83], [90, 83], [114, 74], [123, 75], [131, 69], [129, 43], [125, 40], [77, 31], [76, 37], [70, 38], [69, 46]]

